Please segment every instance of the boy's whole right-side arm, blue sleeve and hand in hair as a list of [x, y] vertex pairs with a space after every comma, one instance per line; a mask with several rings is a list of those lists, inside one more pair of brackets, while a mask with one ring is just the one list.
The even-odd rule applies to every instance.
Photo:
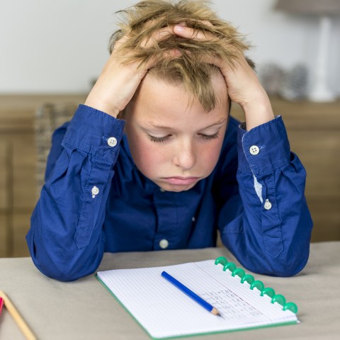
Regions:
[[[174, 32], [183, 38], [215, 38], [185, 26], [174, 26]], [[224, 179], [227, 185], [220, 189], [234, 192], [220, 210], [222, 241], [251, 271], [290, 276], [305, 266], [309, 254], [312, 220], [305, 200], [305, 169], [290, 153], [282, 119], [274, 119], [254, 70], [244, 55], [233, 51], [238, 58], [232, 66], [219, 57], [206, 60], [220, 68], [230, 100], [245, 116], [238, 137], [239, 188], [236, 181]]]

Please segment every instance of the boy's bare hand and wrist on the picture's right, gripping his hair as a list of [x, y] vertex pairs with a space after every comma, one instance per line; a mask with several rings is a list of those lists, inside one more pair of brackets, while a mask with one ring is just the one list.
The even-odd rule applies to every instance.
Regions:
[[[174, 33], [188, 39], [211, 40], [215, 38], [186, 26], [174, 26]], [[227, 42], [225, 43], [227, 44]], [[234, 49], [232, 45], [229, 47]], [[238, 103], [244, 111], [246, 130], [251, 130], [251, 128], [267, 123], [274, 118], [266, 91], [241, 52], [233, 66], [217, 56], [213, 59], [207, 58], [206, 61], [220, 68], [223, 77], [225, 77], [229, 98], [234, 103]]]

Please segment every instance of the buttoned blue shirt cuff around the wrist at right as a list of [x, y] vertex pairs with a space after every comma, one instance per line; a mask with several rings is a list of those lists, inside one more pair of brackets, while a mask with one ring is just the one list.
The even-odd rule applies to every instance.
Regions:
[[266, 174], [290, 162], [290, 145], [281, 116], [249, 131], [237, 132], [239, 169], [255, 176]]

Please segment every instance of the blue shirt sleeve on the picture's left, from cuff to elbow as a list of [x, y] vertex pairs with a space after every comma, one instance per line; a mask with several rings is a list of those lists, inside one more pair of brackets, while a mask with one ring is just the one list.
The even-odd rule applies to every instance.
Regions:
[[64, 125], [53, 135], [45, 185], [26, 236], [33, 262], [46, 276], [75, 280], [98, 267], [124, 124], [81, 105], [67, 130]]

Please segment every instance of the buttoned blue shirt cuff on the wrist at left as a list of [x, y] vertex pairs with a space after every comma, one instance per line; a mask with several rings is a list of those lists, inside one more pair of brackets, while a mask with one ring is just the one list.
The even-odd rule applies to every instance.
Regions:
[[82, 150], [108, 162], [115, 162], [124, 126], [125, 120], [119, 120], [89, 106], [79, 105], [69, 123], [62, 145]]

